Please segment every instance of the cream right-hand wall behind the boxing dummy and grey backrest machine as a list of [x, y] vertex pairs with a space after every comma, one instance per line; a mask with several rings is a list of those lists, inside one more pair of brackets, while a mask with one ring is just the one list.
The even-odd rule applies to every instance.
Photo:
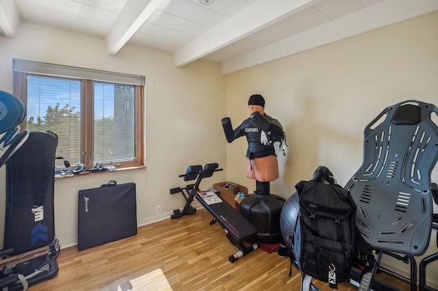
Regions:
[[[318, 165], [346, 184], [362, 163], [363, 129], [383, 109], [411, 99], [438, 105], [437, 28], [435, 13], [227, 75], [233, 126], [248, 116], [250, 94], [259, 93], [266, 113], [285, 128], [289, 148], [279, 156], [280, 178], [271, 183], [271, 193], [289, 197]], [[227, 177], [254, 190], [255, 182], [245, 176], [245, 152], [244, 138], [227, 145]], [[432, 180], [438, 182], [437, 169]], [[433, 251], [435, 233], [426, 254]], [[386, 257], [384, 262], [409, 270]], [[438, 286], [434, 264], [428, 279]]]

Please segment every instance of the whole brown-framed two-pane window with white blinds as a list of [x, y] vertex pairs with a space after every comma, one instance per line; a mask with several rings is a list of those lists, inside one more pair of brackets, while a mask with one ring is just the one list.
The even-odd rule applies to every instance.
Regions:
[[144, 77], [14, 59], [14, 95], [22, 128], [56, 133], [72, 165], [144, 165]]

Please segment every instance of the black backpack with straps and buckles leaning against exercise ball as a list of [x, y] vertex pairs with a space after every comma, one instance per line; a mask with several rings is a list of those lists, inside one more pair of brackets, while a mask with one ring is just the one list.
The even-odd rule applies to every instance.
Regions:
[[303, 273], [337, 288], [337, 282], [350, 280], [355, 260], [355, 202], [326, 167], [318, 167], [310, 181], [300, 181], [295, 188], [299, 214], [291, 248], [294, 259]]

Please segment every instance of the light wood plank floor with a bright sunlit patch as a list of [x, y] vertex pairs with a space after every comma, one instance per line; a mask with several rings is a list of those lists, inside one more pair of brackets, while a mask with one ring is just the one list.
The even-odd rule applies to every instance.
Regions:
[[[139, 227], [136, 236], [114, 243], [62, 249], [59, 273], [29, 290], [299, 290], [298, 271], [289, 278], [289, 259], [277, 253], [257, 249], [230, 263], [237, 248], [210, 220], [206, 210], [198, 210]], [[332, 290], [325, 282], [315, 285]], [[357, 288], [341, 283], [339, 290]]]

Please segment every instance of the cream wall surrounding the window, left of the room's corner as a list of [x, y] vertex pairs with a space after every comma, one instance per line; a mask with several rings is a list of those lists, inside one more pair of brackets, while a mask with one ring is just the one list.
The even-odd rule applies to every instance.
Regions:
[[[169, 190], [185, 186], [179, 174], [189, 165], [219, 163], [226, 167], [220, 119], [225, 114], [224, 77], [220, 65], [196, 61], [175, 68], [172, 55], [127, 45], [114, 57], [103, 40], [70, 31], [23, 23], [15, 38], [0, 36], [0, 89], [12, 93], [12, 59], [139, 74], [146, 77], [146, 167], [113, 174], [92, 174], [55, 182], [55, 232], [62, 247], [77, 243], [77, 193], [110, 180], [136, 182], [137, 217], [142, 225], [170, 217], [183, 208], [182, 195]], [[219, 137], [219, 138], [218, 138]], [[75, 161], [70, 161], [74, 163]], [[26, 165], [36, 167], [38, 165]], [[0, 169], [0, 201], [5, 201], [5, 167]], [[201, 183], [208, 189], [224, 181], [220, 171]], [[162, 214], [155, 214], [155, 206]], [[194, 202], [194, 206], [199, 204]], [[4, 227], [4, 203], [0, 225]], [[0, 241], [3, 242], [3, 229]], [[1, 243], [2, 245], [2, 243]]]

